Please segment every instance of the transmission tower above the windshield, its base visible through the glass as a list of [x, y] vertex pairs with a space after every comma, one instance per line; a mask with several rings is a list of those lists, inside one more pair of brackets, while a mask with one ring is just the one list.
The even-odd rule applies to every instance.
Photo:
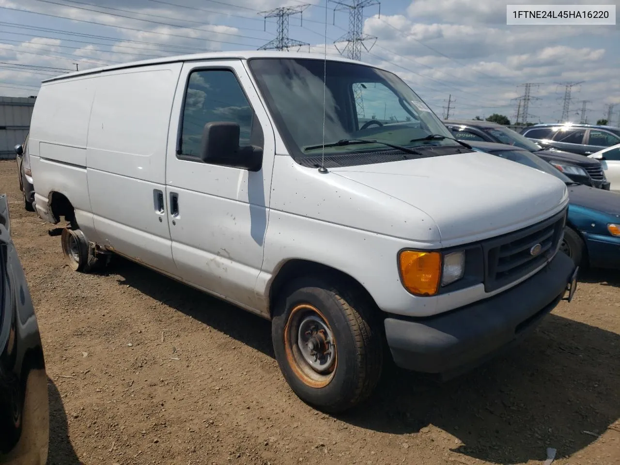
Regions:
[[[377, 38], [364, 33], [364, 9], [369, 6], [378, 5], [379, 15], [381, 15], [381, 2], [378, 0], [349, 0], [348, 2], [342, 0], [329, 0], [332, 3], [337, 4], [334, 7], [334, 24], [336, 20], [337, 11], [348, 11], [349, 13], [349, 29], [348, 32], [334, 42], [336, 50], [340, 52], [340, 55], [346, 55], [350, 60], [361, 60], [361, 48], [364, 47], [366, 51], [370, 51], [374, 47], [374, 43], [377, 42]], [[372, 40], [373, 44], [370, 48], [366, 47], [365, 42]], [[347, 42], [345, 48], [339, 50], [338, 43]], [[355, 84], [353, 86], [353, 94], [355, 95], [355, 106], [357, 108], [358, 117], [365, 117], [364, 100], [361, 95], [361, 86]]]

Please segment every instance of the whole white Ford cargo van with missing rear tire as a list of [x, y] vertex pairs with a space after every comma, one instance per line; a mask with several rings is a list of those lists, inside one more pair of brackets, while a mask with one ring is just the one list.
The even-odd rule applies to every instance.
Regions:
[[365, 399], [387, 355], [477, 365], [575, 288], [565, 185], [454, 141], [368, 64], [243, 51], [67, 74], [42, 84], [29, 151], [74, 269], [113, 252], [270, 319], [322, 410]]

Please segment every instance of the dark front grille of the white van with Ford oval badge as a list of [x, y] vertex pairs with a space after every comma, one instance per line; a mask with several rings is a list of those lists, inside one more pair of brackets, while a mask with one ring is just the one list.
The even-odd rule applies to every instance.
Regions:
[[[509, 285], [551, 259], [564, 232], [565, 219], [566, 210], [563, 210], [541, 223], [483, 243], [485, 291]], [[540, 246], [538, 254], [532, 254], [537, 245]]]

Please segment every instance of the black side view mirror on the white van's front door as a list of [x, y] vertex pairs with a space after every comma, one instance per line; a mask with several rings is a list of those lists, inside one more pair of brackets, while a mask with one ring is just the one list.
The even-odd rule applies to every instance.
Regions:
[[263, 164], [263, 149], [239, 146], [241, 130], [237, 123], [206, 123], [200, 143], [200, 158], [205, 163], [259, 171]]

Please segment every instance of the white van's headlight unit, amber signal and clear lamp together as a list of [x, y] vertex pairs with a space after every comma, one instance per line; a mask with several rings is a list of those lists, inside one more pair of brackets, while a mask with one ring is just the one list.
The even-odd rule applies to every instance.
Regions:
[[[398, 257], [402, 284], [412, 294], [433, 296], [442, 286], [463, 278], [465, 252], [440, 252], [402, 250]], [[443, 264], [443, 272], [442, 272]]]

